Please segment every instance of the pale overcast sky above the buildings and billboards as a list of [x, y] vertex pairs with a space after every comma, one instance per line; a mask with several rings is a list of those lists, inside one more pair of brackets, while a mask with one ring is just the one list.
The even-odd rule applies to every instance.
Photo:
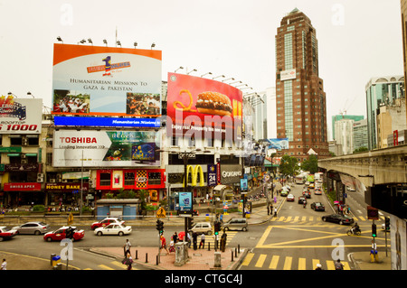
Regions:
[[183, 66], [260, 92], [275, 87], [275, 35], [296, 7], [317, 30], [329, 131], [342, 110], [365, 116], [369, 79], [403, 74], [400, 0], [0, 0], [0, 94], [30, 91], [51, 107], [57, 36], [115, 46], [116, 31], [122, 47], [156, 43], [163, 80]]

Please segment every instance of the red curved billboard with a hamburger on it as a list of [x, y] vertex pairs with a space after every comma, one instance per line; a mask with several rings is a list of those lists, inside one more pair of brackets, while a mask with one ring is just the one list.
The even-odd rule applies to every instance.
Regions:
[[173, 135], [240, 141], [241, 104], [241, 90], [231, 85], [168, 73], [167, 128]]

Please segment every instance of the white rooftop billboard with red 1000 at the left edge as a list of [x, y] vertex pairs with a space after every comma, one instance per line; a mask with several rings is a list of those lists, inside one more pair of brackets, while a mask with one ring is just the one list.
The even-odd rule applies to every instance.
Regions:
[[40, 134], [43, 99], [0, 97], [0, 134]]

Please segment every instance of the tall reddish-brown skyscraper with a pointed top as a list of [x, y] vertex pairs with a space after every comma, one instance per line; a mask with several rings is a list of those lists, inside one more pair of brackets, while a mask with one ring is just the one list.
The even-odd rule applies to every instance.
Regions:
[[317, 33], [308, 16], [294, 9], [276, 35], [277, 137], [289, 138], [282, 151], [303, 162], [310, 149], [329, 157], [327, 99], [318, 75]]

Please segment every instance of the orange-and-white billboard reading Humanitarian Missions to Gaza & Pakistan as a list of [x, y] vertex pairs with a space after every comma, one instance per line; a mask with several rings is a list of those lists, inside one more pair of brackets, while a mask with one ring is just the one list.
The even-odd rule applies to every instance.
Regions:
[[161, 115], [161, 54], [55, 43], [52, 113]]

